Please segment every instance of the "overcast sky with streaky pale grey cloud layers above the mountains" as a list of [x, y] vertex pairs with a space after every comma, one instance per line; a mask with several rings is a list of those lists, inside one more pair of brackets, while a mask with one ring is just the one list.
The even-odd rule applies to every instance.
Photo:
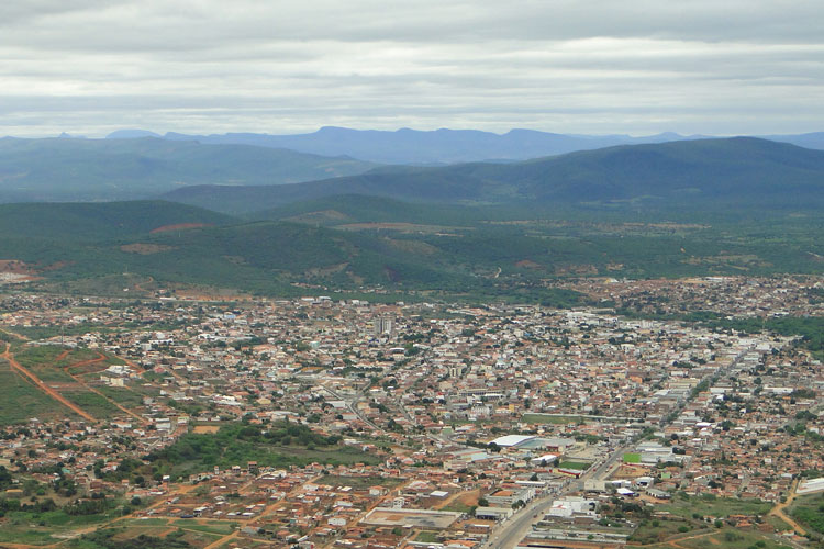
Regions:
[[0, 2], [0, 135], [824, 131], [821, 0]]

